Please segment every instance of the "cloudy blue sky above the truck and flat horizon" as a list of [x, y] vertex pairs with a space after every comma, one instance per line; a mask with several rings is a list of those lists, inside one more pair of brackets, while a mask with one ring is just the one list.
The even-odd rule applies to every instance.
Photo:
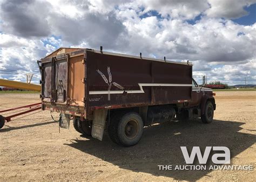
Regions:
[[[40, 76], [36, 61], [84, 47], [171, 61], [228, 85], [256, 84], [256, 0], [0, 0], [0, 78]], [[3, 70], [18, 71], [18, 73]], [[200, 76], [199, 76], [200, 77]]]

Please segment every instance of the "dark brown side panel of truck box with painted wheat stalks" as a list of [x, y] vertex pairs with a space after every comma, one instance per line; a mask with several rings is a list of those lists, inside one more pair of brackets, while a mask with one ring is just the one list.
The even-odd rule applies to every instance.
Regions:
[[[147, 106], [191, 99], [191, 65], [166, 64], [92, 51], [87, 51], [86, 55], [87, 75], [90, 78], [87, 86], [92, 93], [89, 95], [89, 107]], [[117, 83], [120, 87], [112, 83]], [[140, 83], [145, 86], [140, 87]], [[154, 86], [152, 83], [163, 86]], [[165, 86], [170, 83], [172, 86]], [[99, 90], [103, 94], [93, 94]], [[116, 94], [114, 91], [119, 92]], [[133, 93], [134, 91], [137, 93]]]

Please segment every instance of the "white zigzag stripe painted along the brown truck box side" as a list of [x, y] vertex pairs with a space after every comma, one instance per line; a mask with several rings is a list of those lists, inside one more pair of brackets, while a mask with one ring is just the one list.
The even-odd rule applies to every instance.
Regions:
[[[176, 83], [138, 83], [140, 90], [125, 90], [127, 94], [145, 93], [144, 87], [192, 87], [192, 84], [176, 84]], [[124, 90], [106, 90], [106, 91], [90, 91], [90, 95], [96, 94], [123, 94]]]

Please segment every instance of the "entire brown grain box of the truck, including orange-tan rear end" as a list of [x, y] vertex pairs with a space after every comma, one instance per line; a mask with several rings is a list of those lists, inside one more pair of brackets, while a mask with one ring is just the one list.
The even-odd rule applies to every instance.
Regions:
[[190, 102], [192, 65], [63, 48], [42, 59], [42, 83], [43, 108], [92, 118], [95, 109]]

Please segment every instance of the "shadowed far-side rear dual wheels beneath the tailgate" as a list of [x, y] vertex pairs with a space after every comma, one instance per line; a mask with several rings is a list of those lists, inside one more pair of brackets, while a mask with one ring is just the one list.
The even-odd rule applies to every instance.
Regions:
[[92, 135], [92, 122], [90, 120], [81, 121], [80, 118], [77, 117], [73, 120], [73, 126], [80, 134]]

